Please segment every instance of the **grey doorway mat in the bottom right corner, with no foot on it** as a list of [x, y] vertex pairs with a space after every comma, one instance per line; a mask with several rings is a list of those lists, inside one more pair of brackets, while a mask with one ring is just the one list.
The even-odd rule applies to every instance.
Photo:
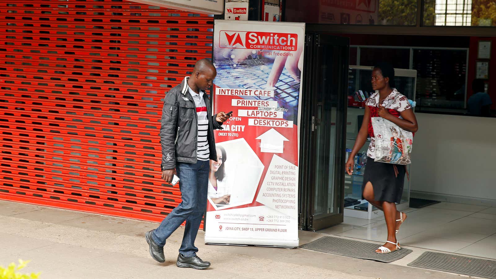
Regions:
[[496, 279], [496, 261], [458, 255], [425, 252], [408, 266]]

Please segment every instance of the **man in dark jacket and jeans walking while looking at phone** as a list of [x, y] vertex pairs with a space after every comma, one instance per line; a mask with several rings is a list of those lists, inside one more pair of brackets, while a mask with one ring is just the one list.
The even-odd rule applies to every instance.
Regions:
[[186, 220], [183, 244], [176, 265], [181, 268], [206, 269], [196, 252], [194, 240], [206, 209], [210, 159], [216, 160], [214, 129], [228, 120], [224, 112], [212, 116], [204, 90], [212, 86], [217, 75], [207, 59], [199, 60], [190, 77], [172, 88], [164, 100], [160, 143], [162, 145], [162, 179], [171, 182], [177, 173], [180, 179], [182, 203], [172, 210], [157, 229], [145, 234], [150, 255], [165, 262], [166, 239]]

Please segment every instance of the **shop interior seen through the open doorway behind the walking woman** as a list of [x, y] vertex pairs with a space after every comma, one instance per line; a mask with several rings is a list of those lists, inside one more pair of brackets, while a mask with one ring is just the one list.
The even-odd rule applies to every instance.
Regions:
[[[410, 179], [405, 178], [397, 205], [408, 214], [398, 234], [400, 243], [495, 258], [496, 18], [478, 9], [486, 2], [496, 7], [496, 1], [418, 0], [403, 6], [390, 2], [375, 1], [378, 12], [366, 14], [373, 19], [366, 21], [325, 1], [303, 6], [288, 0], [284, 18], [319, 23], [320, 32], [350, 39], [346, 156], [362, 123], [375, 63], [392, 64], [397, 89], [416, 101], [419, 133]], [[482, 88], [474, 85], [481, 81]], [[475, 110], [474, 102], [480, 106]], [[366, 150], [367, 144], [361, 151]], [[386, 238], [382, 212], [361, 197], [367, 168], [364, 154], [355, 157], [355, 173], [344, 176], [344, 185], [329, 183], [334, 190], [329, 195], [343, 193], [343, 222], [319, 232], [375, 241]], [[411, 198], [438, 203], [412, 208]]]

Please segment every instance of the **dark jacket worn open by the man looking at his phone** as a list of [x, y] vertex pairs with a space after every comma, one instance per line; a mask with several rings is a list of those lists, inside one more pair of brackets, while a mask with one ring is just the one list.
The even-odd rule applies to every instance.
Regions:
[[[172, 88], [164, 99], [162, 108], [162, 126], [160, 128], [160, 144], [162, 145], [161, 169], [174, 169], [176, 162], [196, 163], [196, 141], [198, 140], [198, 124], [193, 97], [186, 86], [188, 77]], [[207, 94], [203, 94], [208, 115], [212, 115]], [[208, 146], [210, 159], [217, 160], [214, 129], [222, 130], [217, 115], [208, 120]]]

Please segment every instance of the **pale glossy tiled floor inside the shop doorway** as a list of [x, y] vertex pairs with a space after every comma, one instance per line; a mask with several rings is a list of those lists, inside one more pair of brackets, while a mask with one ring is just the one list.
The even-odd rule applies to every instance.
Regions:
[[[400, 244], [496, 259], [496, 208], [439, 203], [406, 212], [397, 234]], [[319, 232], [374, 241], [387, 237], [384, 217], [344, 217], [343, 223]]]

